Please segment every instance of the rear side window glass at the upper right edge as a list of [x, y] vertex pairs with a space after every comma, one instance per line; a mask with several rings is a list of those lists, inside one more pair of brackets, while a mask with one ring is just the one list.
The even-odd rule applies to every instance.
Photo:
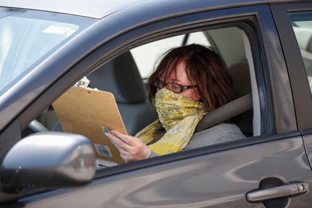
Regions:
[[312, 93], [312, 12], [291, 12], [288, 16], [296, 35]]

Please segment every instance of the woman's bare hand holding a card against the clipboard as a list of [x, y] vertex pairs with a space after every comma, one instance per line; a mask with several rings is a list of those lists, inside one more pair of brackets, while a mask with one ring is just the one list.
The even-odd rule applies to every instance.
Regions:
[[110, 132], [108, 132], [106, 136], [110, 139], [111, 143], [116, 146], [120, 152], [121, 158], [126, 162], [147, 159], [151, 154], [151, 150], [148, 146], [138, 138], [125, 135], [115, 130], [113, 132], [124, 141]]

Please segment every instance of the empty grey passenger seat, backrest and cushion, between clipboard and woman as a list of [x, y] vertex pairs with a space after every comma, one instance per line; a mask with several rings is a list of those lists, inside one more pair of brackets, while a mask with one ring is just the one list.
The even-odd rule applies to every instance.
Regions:
[[87, 78], [90, 87], [114, 94], [129, 135], [135, 135], [158, 118], [147, 101], [143, 80], [130, 51], [100, 66]]

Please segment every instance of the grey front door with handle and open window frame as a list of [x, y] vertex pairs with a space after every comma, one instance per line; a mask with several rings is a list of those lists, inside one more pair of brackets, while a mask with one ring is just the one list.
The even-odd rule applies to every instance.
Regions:
[[[204, 1], [198, 2], [206, 5]], [[168, 8], [161, 12], [168, 12]], [[118, 16], [124, 18], [130, 13], [131, 8], [128, 8], [109, 19], [118, 20]], [[151, 10], [142, 10], [128, 17], [135, 22], [138, 16], [150, 14]], [[257, 80], [260, 135], [100, 170], [94, 181], [84, 187], [31, 193], [6, 206], [311, 206], [311, 168], [297, 128], [288, 71], [269, 5], [204, 12], [185, 10], [181, 14], [165, 17], [158, 14], [158, 21], [150, 18], [148, 24], [141, 22], [141, 27], [132, 28], [93, 51], [21, 113], [21, 126], [34, 118], [27, 117], [33, 108], [43, 109], [94, 66], [127, 47], [151, 41], [155, 35], [159, 38], [204, 26], [234, 25], [246, 33], [251, 45], [248, 54]], [[104, 29], [99, 34], [106, 32]], [[148, 38], [142, 40], [142, 36]]]

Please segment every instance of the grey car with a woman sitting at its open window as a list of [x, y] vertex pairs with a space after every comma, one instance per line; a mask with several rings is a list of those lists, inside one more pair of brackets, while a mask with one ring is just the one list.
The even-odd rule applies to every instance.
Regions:
[[[0, 16], [1, 207], [312, 207], [312, 1], [0, 0]], [[190, 43], [240, 96], [197, 131], [240, 114], [246, 138], [96, 171], [51, 104], [86, 76], [134, 135], [157, 116], [155, 59]]]

